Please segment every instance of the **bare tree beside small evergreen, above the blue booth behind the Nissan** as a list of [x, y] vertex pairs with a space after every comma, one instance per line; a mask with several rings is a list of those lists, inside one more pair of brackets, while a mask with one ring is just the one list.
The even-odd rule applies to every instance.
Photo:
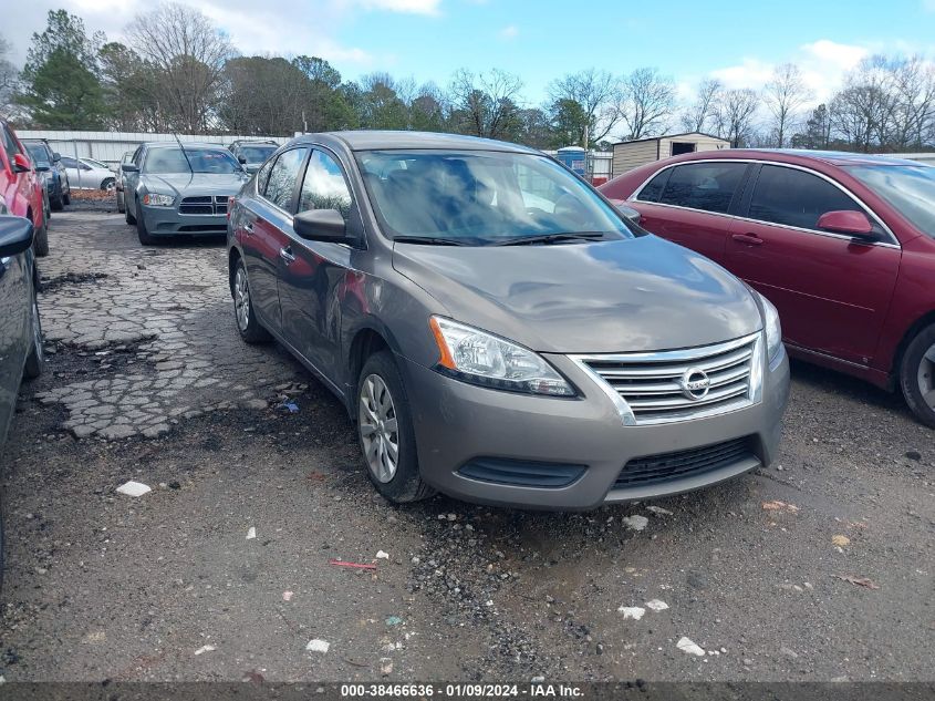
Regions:
[[562, 104], [570, 100], [581, 106], [586, 120], [581, 144], [584, 148], [591, 142], [606, 138], [617, 125], [621, 120], [620, 96], [620, 81], [606, 71], [594, 69], [570, 73], [549, 85], [551, 104]]

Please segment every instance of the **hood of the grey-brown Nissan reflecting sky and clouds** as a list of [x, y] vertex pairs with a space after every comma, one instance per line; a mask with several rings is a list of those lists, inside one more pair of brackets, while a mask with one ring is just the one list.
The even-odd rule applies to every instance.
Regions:
[[687, 348], [762, 328], [740, 280], [656, 236], [551, 246], [396, 244], [393, 266], [458, 321], [540, 352]]

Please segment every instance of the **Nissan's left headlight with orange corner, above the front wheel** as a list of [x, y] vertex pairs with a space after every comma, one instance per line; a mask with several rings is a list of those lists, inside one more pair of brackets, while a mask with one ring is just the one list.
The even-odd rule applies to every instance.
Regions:
[[445, 319], [429, 320], [438, 368], [459, 380], [498, 390], [574, 396], [574, 390], [538, 353], [506, 339]]

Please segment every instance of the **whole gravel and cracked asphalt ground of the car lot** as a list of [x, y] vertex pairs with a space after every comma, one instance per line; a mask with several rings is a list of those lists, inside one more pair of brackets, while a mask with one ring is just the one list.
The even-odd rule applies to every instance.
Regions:
[[397, 509], [339, 402], [240, 342], [218, 241], [143, 248], [90, 209], [53, 217], [53, 352], [0, 458], [8, 681], [935, 679], [935, 433], [898, 398], [796, 364], [769, 470], [589, 514]]

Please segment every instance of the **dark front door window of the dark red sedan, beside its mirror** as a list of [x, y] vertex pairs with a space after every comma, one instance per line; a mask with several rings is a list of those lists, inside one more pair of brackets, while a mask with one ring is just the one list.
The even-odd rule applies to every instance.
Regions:
[[834, 185], [811, 173], [765, 165], [750, 200], [751, 219], [817, 229], [825, 212], [853, 209], [860, 205]]

